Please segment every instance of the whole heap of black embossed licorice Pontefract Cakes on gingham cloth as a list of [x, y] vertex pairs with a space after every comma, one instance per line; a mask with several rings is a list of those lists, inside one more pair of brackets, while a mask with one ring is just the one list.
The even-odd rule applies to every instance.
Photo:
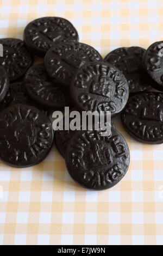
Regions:
[[[17, 168], [45, 159], [53, 141], [78, 184], [92, 190], [116, 185], [129, 166], [128, 145], [111, 123], [101, 130], [53, 131], [49, 111], [65, 106], [121, 112], [124, 128], [140, 142], [163, 143], [163, 41], [147, 50], [121, 47], [104, 59], [79, 41], [66, 19], [42, 17], [23, 41], [0, 39], [0, 159]], [[33, 65], [35, 56], [43, 57]], [[148, 92], [150, 90], [150, 92]], [[55, 137], [55, 139], [54, 139]]]

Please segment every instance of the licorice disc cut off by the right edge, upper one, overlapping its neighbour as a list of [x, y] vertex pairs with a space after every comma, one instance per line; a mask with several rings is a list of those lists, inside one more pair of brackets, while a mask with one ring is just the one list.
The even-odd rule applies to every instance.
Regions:
[[143, 65], [149, 76], [156, 82], [153, 84], [155, 89], [163, 92], [163, 41], [154, 42], [150, 45], [143, 55]]

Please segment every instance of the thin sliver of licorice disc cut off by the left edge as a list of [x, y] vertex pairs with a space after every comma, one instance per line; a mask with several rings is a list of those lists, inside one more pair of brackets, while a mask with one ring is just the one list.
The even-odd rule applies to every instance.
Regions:
[[7, 94], [8, 88], [9, 88], [9, 78], [8, 78], [7, 72], [0, 65], [0, 102], [4, 99], [5, 95]]

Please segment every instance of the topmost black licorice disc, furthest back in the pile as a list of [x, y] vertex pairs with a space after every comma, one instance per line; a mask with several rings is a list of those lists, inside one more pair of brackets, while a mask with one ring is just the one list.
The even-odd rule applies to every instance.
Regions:
[[76, 28], [61, 17], [42, 17], [30, 22], [23, 37], [29, 51], [41, 57], [55, 44], [79, 40]]

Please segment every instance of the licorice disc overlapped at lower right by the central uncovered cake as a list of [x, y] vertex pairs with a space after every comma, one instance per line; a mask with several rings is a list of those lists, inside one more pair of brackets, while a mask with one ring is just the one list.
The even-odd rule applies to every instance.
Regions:
[[87, 62], [102, 60], [102, 56], [95, 48], [82, 42], [73, 42], [51, 48], [46, 53], [44, 64], [52, 79], [69, 88], [73, 75], [81, 66]]

